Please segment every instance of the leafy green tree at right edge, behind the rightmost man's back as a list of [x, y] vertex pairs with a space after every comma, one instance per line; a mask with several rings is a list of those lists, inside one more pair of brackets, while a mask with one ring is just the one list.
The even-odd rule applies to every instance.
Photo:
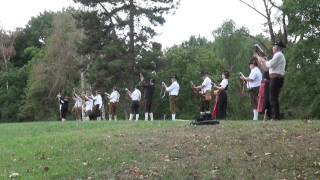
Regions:
[[288, 66], [283, 100], [291, 117], [320, 117], [320, 2], [284, 0], [288, 31], [294, 43], [287, 50]]

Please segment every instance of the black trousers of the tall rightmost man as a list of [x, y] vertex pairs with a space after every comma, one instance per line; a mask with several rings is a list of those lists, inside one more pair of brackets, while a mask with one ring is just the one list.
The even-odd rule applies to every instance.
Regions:
[[280, 90], [283, 86], [283, 78], [276, 77], [270, 79], [270, 104], [271, 104], [271, 111], [272, 111], [272, 118], [273, 119], [280, 119], [280, 107], [279, 107], [279, 95]]

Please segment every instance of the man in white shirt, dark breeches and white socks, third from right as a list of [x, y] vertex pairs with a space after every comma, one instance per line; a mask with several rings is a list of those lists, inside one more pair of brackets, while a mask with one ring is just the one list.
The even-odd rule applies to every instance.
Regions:
[[253, 109], [253, 120], [258, 120], [258, 95], [259, 88], [262, 81], [262, 73], [258, 68], [258, 59], [253, 57], [249, 62], [249, 67], [251, 69], [250, 75], [245, 77], [242, 73], [240, 79], [247, 82], [247, 88], [249, 89], [251, 106]]

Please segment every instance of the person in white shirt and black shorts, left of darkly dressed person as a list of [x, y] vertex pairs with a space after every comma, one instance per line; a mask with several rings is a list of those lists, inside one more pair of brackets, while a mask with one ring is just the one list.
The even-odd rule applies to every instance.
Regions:
[[131, 113], [130, 113], [129, 121], [132, 121], [134, 116], [136, 116], [136, 121], [138, 121], [141, 92], [137, 86], [135, 87], [132, 93], [128, 89], [126, 89], [126, 91], [129, 97], [131, 98]]

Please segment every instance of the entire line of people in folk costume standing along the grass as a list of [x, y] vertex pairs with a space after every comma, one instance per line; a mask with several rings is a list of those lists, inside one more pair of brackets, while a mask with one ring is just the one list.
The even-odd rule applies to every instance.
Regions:
[[[277, 43], [273, 47], [274, 56], [267, 61], [265, 57], [254, 54], [249, 62], [251, 69], [250, 75], [246, 77], [240, 73], [240, 79], [247, 86], [250, 94], [251, 106], [253, 111], [253, 120], [258, 120], [258, 114], [262, 113], [269, 119], [280, 119], [279, 110], [279, 94], [283, 85], [283, 76], [285, 73], [285, 57], [282, 53], [284, 48], [282, 43]], [[262, 73], [264, 72], [264, 73]], [[201, 85], [192, 83], [192, 91], [200, 97], [200, 117], [201, 120], [225, 119], [227, 115], [227, 91], [229, 87], [229, 72], [223, 71], [221, 82], [215, 84], [209, 77], [208, 73], [202, 76]], [[169, 94], [169, 106], [171, 119], [176, 120], [176, 99], [179, 95], [180, 85], [175, 76], [171, 77], [171, 85], [167, 86], [165, 82], [161, 83], [163, 91]], [[143, 90], [143, 95], [140, 89]], [[140, 83], [135, 86], [132, 92], [125, 89], [129, 99], [131, 100], [131, 108], [129, 120], [139, 120], [140, 103], [143, 96], [145, 120], [154, 120], [152, 105], [155, 92], [155, 80], [146, 80], [140, 74]], [[165, 95], [165, 94], [164, 94]], [[113, 87], [111, 94], [105, 93], [108, 100], [109, 120], [117, 120], [117, 107], [120, 100], [120, 93], [117, 87]], [[65, 121], [68, 110], [68, 98], [58, 94], [60, 117]], [[211, 100], [214, 98], [213, 108], [210, 110]], [[103, 98], [100, 91], [96, 91], [95, 95], [78, 95], [73, 93], [75, 105], [72, 109], [77, 120], [101, 120], [102, 111], [104, 110]]]

